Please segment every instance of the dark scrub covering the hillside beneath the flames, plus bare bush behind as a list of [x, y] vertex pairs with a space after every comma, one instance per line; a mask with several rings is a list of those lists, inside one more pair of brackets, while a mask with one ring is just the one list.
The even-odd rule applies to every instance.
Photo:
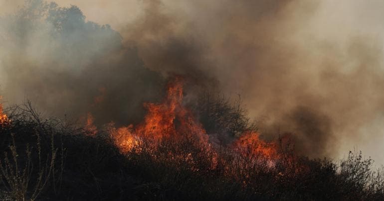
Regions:
[[[200, 113], [211, 114], [204, 116], [210, 133], [221, 131], [215, 126], [253, 126], [238, 104], [205, 104], [213, 105], [211, 112], [202, 106]], [[222, 115], [216, 115], [218, 111]], [[0, 126], [0, 200], [384, 198], [382, 169], [374, 169], [373, 160], [360, 152], [350, 152], [341, 161], [309, 159], [295, 155], [293, 146], [280, 140], [272, 163], [247, 149], [238, 154], [223, 145], [213, 151], [186, 135], [177, 140], [142, 138], [122, 153], [107, 131], [90, 136], [69, 120], [44, 117], [30, 103], [5, 112], [10, 122]]]

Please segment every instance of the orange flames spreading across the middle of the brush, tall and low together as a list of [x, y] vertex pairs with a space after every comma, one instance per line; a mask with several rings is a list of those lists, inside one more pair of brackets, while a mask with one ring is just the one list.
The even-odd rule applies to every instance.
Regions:
[[[153, 160], [176, 167], [185, 167], [188, 164], [193, 172], [203, 171], [198, 165], [199, 160], [206, 160], [203, 162], [205, 168], [224, 170], [225, 174], [239, 181], [245, 181], [249, 176], [241, 175], [244, 169], [255, 167], [259, 162], [266, 162], [267, 167], [273, 169], [281, 158], [279, 143], [266, 142], [253, 131], [244, 132], [226, 148], [229, 152], [211, 146], [202, 124], [183, 105], [183, 79], [180, 77], [168, 84], [163, 101], [147, 102], [144, 107], [147, 114], [141, 123], [116, 128], [111, 122], [106, 126], [107, 132], [122, 153], [149, 153]], [[97, 128], [93, 120], [93, 116], [88, 113], [85, 128], [91, 134], [96, 134]], [[228, 156], [236, 160], [225, 162]]]

